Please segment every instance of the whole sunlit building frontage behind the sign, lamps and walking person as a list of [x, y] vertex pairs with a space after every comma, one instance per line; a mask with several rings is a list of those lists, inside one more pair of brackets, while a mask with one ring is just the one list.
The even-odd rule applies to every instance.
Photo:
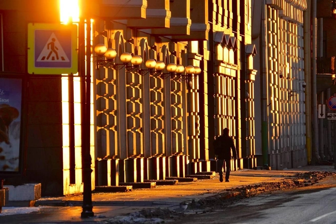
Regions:
[[[82, 82], [76, 75], [27, 73], [26, 41], [19, 41], [17, 49], [10, 43], [27, 37], [28, 23], [59, 23], [59, 10], [58, 1], [24, 2], [0, 4], [3, 72], [24, 74], [29, 83], [25, 173], [8, 178], [6, 184], [41, 183], [43, 195], [80, 193]], [[265, 126], [259, 108], [264, 102], [260, 89], [265, 86], [269, 165], [282, 169], [306, 163], [301, 87], [304, 1], [267, 1], [267, 77], [260, 72], [262, 17], [256, 1], [86, 3], [93, 19], [91, 31], [87, 29], [92, 49], [103, 44], [116, 52], [113, 62], [95, 51], [85, 59], [91, 65], [84, 71], [91, 75], [92, 89], [92, 189], [215, 171], [212, 143], [225, 127], [238, 153], [232, 170], [262, 164]], [[17, 26], [11, 26], [13, 21]], [[79, 49], [86, 44], [82, 40]], [[143, 62], [138, 67], [125, 65], [122, 53], [139, 55]], [[171, 74], [167, 67], [160, 73], [149, 71], [145, 64], [151, 59], [185, 68], [193, 65], [201, 73]]]

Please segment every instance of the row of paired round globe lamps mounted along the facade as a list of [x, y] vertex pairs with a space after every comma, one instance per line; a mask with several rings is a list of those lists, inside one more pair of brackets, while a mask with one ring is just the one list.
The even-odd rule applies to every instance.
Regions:
[[[118, 71], [125, 68], [127, 72], [134, 72], [142, 76], [149, 74], [150, 76], [159, 76], [163, 79], [171, 77], [171, 79], [177, 78], [181, 80], [192, 79], [201, 73], [199, 66], [187, 65], [184, 67], [181, 64], [176, 65], [174, 63], [170, 63], [165, 66], [163, 61], [156, 61], [154, 59], [146, 60], [145, 66], [147, 69], [141, 69], [141, 56], [132, 56], [132, 54], [128, 52], [124, 52], [120, 55], [122, 63], [115, 63], [114, 59], [117, 56], [116, 50], [113, 48], [107, 48], [103, 43], [98, 43], [94, 48], [94, 52], [98, 56], [97, 69], [104, 67]], [[130, 62], [132, 65], [129, 65]], [[166, 69], [167, 73], [163, 72], [164, 69]]]

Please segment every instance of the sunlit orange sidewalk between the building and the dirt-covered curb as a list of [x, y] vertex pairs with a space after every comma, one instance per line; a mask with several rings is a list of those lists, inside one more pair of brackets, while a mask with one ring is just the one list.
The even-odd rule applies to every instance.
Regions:
[[[122, 193], [92, 193], [94, 217], [80, 218], [82, 196], [44, 197], [36, 201], [34, 213], [19, 214], [28, 208], [3, 208], [0, 223], [94, 223], [144, 208], [178, 209], [182, 202], [190, 203], [229, 188], [262, 182], [279, 182], [297, 173], [308, 171], [336, 172], [334, 166], [306, 166], [288, 170], [239, 170], [231, 172], [230, 182], [219, 182], [218, 174], [211, 180], [157, 186], [152, 189], [133, 189]], [[10, 213], [16, 209], [16, 213]], [[7, 213], [7, 214], [6, 214]], [[12, 215], [10, 215], [12, 214]]]

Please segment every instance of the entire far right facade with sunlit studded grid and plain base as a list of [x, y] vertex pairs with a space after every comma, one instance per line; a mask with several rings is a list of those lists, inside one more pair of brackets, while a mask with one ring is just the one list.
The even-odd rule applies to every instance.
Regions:
[[[272, 169], [285, 169], [307, 164], [305, 130], [303, 12], [306, 1], [272, 1], [265, 8], [260, 1], [253, 4], [253, 43], [257, 51], [255, 68], [265, 81], [256, 82], [256, 98], [266, 92], [266, 138], [256, 135], [257, 153], [262, 154], [266, 141], [267, 162]], [[260, 23], [265, 11], [265, 33]], [[261, 41], [262, 40], [262, 41]], [[264, 41], [264, 45], [262, 42]], [[264, 57], [266, 58], [263, 63]], [[263, 69], [266, 71], [262, 74]], [[261, 101], [257, 107], [262, 108]], [[256, 133], [262, 133], [262, 116], [256, 114]]]

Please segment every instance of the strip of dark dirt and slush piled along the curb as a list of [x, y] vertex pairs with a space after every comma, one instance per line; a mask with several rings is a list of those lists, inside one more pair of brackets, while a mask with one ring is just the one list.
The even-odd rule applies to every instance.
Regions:
[[217, 195], [209, 196], [199, 200], [192, 200], [187, 204], [187, 209], [184, 210], [169, 210], [166, 208], [143, 209], [139, 212], [131, 213], [124, 216], [116, 216], [105, 223], [116, 224], [135, 224], [135, 223], [163, 223], [174, 222], [187, 213], [207, 213], [222, 207], [225, 204], [232, 204], [242, 198], [254, 196], [260, 193], [277, 191], [281, 189], [297, 188], [311, 186], [318, 183], [326, 176], [336, 176], [334, 172], [306, 172], [286, 177], [283, 181], [271, 183], [259, 183], [255, 185], [246, 185], [237, 188], [227, 189]]

